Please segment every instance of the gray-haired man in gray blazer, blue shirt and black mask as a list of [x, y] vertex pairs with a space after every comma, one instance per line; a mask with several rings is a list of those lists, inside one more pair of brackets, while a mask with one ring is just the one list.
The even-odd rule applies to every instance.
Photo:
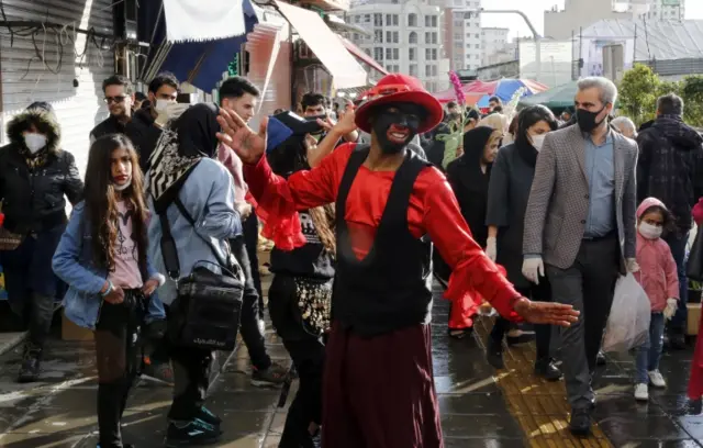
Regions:
[[553, 298], [579, 310], [561, 329], [561, 356], [571, 405], [570, 429], [590, 432], [591, 376], [618, 273], [636, 271], [637, 145], [611, 130], [617, 88], [584, 78], [576, 96], [577, 125], [547, 134], [537, 158], [525, 215], [523, 273], [545, 275]]

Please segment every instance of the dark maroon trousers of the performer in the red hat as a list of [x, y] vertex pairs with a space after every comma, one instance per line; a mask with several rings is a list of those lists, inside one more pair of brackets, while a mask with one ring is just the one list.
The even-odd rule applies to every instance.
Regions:
[[362, 338], [333, 324], [322, 396], [325, 447], [444, 447], [428, 325]]

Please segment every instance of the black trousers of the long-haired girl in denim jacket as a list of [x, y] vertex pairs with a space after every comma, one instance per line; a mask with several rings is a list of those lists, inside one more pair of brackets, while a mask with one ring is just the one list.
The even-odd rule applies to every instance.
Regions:
[[98, 360], [98, 427], [102, 448], [121, 448], [120, 422], [142, 362], [141, 329], [146, 299], [125, 291], [124, 302], [102, 303], [96, 326]]

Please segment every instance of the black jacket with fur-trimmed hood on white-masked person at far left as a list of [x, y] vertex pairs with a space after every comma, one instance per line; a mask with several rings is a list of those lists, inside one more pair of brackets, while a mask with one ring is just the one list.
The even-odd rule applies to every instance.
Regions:
[[[46, 161], [31, 170], [22, 132], [29, 123], [48, 130]], [[3, 226], [26, 235], [66, 223], [65, 197], [76, 204], [82, 200], [83, 182], [74, 155], [58, 148], [60, 131], [53, 114], [36, 109], [16, 115], [8, 125], [10, 144], [0, 148], [0, 200]]]

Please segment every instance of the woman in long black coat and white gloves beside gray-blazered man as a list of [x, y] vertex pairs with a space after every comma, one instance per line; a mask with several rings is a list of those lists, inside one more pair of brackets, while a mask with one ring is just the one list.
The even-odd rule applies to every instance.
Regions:
[[[537, 155], [545, 135], [557, 127], [557, 120], [547, 108], [535, 105], [524, 109], [518, 116], [515, 143], [498, 153], [488, 191], [486, 251], [492, 260], [505, 268], [507, 279], [515, 289], [532, 300], [550, 301], [551, 290], [546, 277], [540, 279], [539, 284], [535, 284], [522, 273], [525, 211], [535, 177]], [[496, 369], [504, 367], [503, 337], [509, 329], [510, 322], [498, 317], [487, 343], [488, 361]], [[549, 356], [550, 327], [536, 325], [535, 333], [535, 372], [547, 380], [558, 380], [561, 372]]]

